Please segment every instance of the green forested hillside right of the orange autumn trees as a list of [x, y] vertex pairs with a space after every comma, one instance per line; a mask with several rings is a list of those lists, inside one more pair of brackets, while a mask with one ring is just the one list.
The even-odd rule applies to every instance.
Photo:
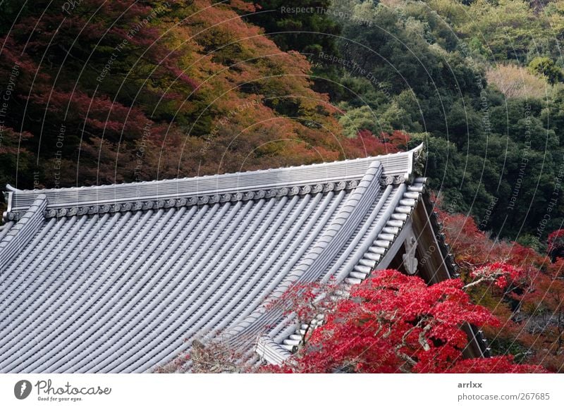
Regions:
[[[294, 16], [254, 21], [281, 47], [309, 55], [317, 89], [346, 112], [345, 135], [402, 130], [410, 146], [424, 141], [427, 175], [450, 209], [495, 235], [542, 245], [563, 221], [564, 2], [321, 3], [312, 2], [317, 20], [296, 13], [295, 27], [321, 33], [308, 34], [313, 45], [280, 33]], [[341, 33], [325, 34], [324, 19]]]

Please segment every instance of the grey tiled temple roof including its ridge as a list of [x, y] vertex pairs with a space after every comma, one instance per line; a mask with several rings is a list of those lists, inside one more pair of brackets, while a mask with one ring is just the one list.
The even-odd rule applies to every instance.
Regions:
[[304, 328], [265, 309], [265, 299], [296, 281], [364, 279], [419, 200], [424, 179], [414, 180], [412, 167], [420, 150], [8, 189], [0, 371], [152, 371], [185, 352], [187, 339], [219, 334], [250, 358], [285, 359]]

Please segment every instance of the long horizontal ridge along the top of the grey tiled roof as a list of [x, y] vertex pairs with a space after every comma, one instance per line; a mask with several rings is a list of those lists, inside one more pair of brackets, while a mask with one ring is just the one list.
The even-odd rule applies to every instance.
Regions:
[[[408, 180], [413, 176], [422, 150], [423, 144], [419, 144], [407, 152], [362, 159], [92, 187], [18, 190], [7, 185], [5, 194], [8, 209], [4, 219], [13, 221], [23, 216], [39, 194], [45, 194], [48, 199], [45, 215], [49, 217], [186, 205], [186, 202], [207, 204], [238, 201], [259, 198], [262, 194], [263, 197], [269, 194], [271, 197], [303, 194], [311, 188], [333, 190], [339, 186], [342, 189], [348, 187], [348, 183], [360, 181], [374, 161], [381, 162], [384, 177]], [[350, 185], [349, 188], [354, 187]]]

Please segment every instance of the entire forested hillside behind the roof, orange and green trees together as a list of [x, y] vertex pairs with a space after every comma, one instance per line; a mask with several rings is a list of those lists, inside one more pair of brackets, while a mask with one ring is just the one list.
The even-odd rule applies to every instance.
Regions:
[[432, 186], [482, 230], [539, 247], [564, 219], [564, 1], [0, 7], [2, 184], [151, 180], [425, 142]]

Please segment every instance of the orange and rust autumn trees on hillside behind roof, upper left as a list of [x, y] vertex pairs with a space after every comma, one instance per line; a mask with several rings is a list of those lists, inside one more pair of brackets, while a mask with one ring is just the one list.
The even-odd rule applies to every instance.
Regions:
[[12, 3], [1, 27], [1, 69], [14, 73], [2, 184], [120, 183], [386, 151], [343, 137], [307, 58], [240, 18], [250, 4]]

